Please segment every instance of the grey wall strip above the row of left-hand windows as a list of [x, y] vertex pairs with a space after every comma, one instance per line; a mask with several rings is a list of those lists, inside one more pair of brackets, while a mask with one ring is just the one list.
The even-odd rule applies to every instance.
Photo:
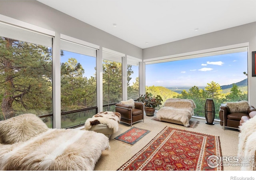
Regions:
[[142, 59], [141, 48], [35, 0], [0, 0], [0, 14]]

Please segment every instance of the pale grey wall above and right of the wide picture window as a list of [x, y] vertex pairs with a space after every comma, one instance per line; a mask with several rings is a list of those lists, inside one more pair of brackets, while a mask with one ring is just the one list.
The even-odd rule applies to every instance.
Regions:
[[236, 44], [249, 44], [248, 101], [256, 107], [256, 77], [252, 77], [252, 51], [256, 51], [256, 22], [143, 49], [143, 60], [190, 54]]

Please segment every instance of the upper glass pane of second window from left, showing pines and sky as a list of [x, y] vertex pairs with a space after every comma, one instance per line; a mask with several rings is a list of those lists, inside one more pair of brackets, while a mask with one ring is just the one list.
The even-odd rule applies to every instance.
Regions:
[[96, 58], [62, 52], [61, 111], [96, 107]]

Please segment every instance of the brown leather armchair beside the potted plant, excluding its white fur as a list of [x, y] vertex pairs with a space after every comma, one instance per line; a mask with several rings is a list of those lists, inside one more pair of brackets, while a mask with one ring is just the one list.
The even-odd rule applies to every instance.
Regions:
[[117, 103], [115, 105], [116, 112], [121, 114], [122, 122], [129, 124], [132, 126], [134, 122], [143, 120], [144, 122], [144, 111], [143, 111], [143, 103], [134, 102], [135, 108], [128, 104]]

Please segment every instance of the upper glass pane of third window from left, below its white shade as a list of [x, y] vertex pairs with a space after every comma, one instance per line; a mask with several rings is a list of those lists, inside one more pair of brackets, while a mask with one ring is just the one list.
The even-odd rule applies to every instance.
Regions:
[[122, 100], [122, 63], [103, 60], [103, 105]]

